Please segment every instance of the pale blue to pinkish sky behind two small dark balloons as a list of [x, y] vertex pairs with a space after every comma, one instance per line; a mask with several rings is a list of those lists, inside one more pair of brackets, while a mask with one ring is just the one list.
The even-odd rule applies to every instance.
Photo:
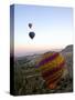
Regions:
[[[33, 24], [32, 30], [29, 23]], [[30, 31], [35, 32], [33, 40]], [[14, 56], [57, 50], [68, 44], [73, 44], [72, 8], [14, 6]]]

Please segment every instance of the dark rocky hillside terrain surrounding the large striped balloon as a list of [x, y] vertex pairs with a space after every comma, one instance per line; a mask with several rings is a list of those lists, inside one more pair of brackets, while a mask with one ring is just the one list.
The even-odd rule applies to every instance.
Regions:
[[[50, 51], [51, 52], [51, 51]], [[35, 60], [42, 54], [25, 56], [14, 59], [14, 93], [19, 94], [43, 94], [64, 93], [73, 91], [73, 46], [67, 46], [60, 51], [66, 60], [65, 77], [61, 79], [57, 88], [46, 88], [41, 72], [35, 70]]]

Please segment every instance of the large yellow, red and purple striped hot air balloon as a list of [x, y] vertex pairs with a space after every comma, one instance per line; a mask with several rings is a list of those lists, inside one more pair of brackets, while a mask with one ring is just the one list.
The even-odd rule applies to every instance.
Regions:
[[36, 69], [41, 71], [47, 88], [55, 89], [63, 76], [65, 59], [58, 52], [44, 53], [36, 61]]

